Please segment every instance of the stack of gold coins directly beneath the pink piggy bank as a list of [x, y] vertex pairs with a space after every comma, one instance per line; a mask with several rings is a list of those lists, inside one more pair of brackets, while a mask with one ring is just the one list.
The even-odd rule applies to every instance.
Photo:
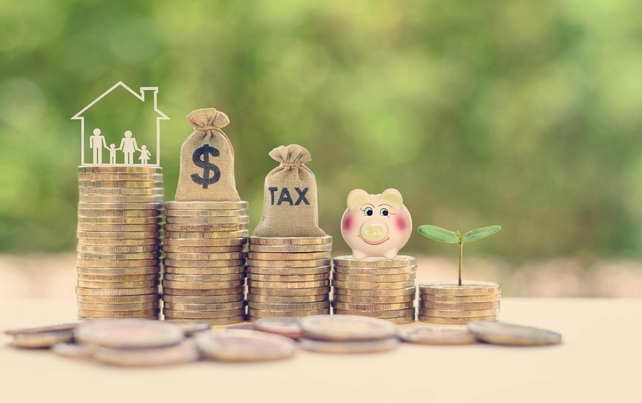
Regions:
[[334, 258], [333, 313], [381, 318], [395, 324], [415, 320], [417, 259]]

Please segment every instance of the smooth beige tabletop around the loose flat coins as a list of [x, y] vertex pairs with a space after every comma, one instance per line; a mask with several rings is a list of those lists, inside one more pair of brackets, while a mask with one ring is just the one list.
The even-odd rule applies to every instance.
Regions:
[[[75, 319], [73, 300], [0, 302], [0, 329]], [[3, 402], [641, 401], [642, 300], [505, 298], [501, 320], [562, 333], [549, 347], [403, 344], [392, 352], [300, 351], [268, 363], [115, 368], [0, 347]], [[417, 322], [413, 325], [426, 325]]]

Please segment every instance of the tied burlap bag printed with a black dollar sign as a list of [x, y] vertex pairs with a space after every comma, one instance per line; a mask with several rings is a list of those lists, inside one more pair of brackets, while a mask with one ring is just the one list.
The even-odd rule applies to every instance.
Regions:
[[234, 149], [221, 130], [230, 120], [214, 108], [185, 118], [194, 127], [180, 147], [177, 201], [239, 201], [234, 182]]

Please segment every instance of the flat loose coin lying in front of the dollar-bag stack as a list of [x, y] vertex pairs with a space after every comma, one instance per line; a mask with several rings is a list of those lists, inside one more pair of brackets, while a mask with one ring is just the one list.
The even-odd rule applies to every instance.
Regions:
[[241, 329], [207, 331], [196, 335], [205, 358], [219, 361], [268, 361], [291, 357], [296, 344], [290, 338]]

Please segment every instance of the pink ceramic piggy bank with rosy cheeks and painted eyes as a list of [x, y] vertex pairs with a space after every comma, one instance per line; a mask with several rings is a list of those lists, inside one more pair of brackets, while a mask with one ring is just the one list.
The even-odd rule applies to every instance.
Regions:
[[386, 189], [369, 195], [355, 189], [348, 195], [348, 208], [341, 218], [341, 234], [355, 259], [397, 257], [412, 233], [412, 218], [401, 193]]

